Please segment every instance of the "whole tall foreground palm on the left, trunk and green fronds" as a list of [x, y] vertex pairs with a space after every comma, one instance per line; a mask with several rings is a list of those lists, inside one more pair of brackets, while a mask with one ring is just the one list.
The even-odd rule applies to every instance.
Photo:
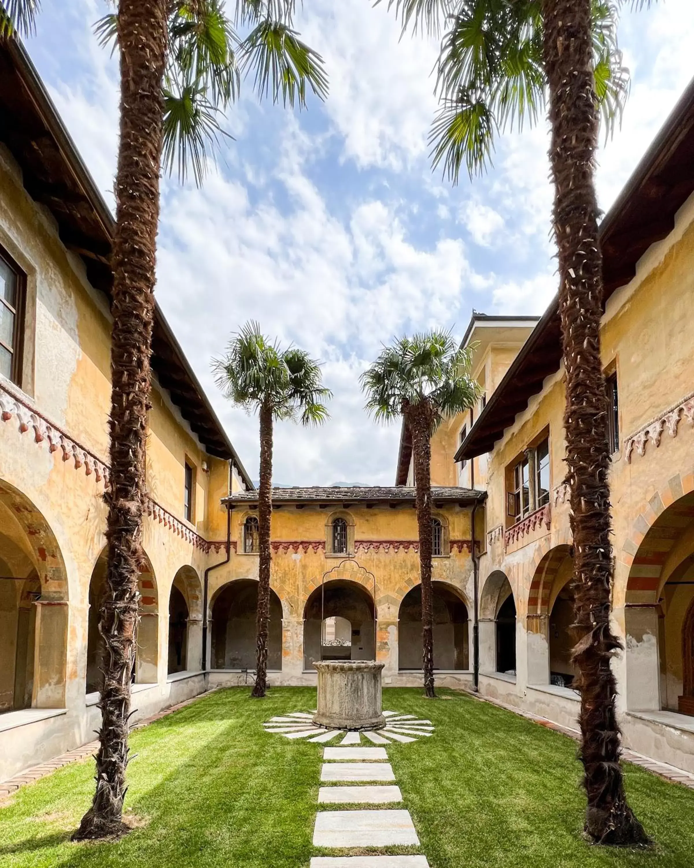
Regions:
[[[3, 0], [0, 38], [33, 30], [40, 0]], [[236, 96], [239, 69], [255, 71], [260, 97], [304, 104], [324, 96], [322, 61], [291, 30], [291, 0], [239, 0], [236, 36], [223, 0], [119, 0], [97, 25], [120, 51], [121, 137], [115, 178], [112, 266], [110, 487], [107, 594], [99, 629], [104, 680], [94, 802], [75, 839], [121, 834], [128, 764], [130, 681], [138, 623], [145, 447], [154, 323], [160, 170], [192, 168], [200, 183], [219, 141], [220, 113]]]

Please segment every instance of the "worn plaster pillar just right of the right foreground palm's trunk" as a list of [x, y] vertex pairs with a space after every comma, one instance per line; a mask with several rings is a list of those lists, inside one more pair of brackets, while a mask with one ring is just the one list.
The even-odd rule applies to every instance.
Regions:
[[626, 603], [626, 707], [633, 711], [660, 708], [658, 603]]

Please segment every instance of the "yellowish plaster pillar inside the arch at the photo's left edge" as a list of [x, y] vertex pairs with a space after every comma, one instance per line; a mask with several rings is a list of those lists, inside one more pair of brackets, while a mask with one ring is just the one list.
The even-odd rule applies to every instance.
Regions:
[[68, 602], [37, 600], [33, 606], [36, 628], [31, 706], [64, 708], [64, 667], [68, 654]]

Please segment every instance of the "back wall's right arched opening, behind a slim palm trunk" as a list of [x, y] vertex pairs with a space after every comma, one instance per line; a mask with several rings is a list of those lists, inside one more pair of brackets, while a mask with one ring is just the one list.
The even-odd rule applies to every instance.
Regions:
[[[449, 582], [432, 582], [434, 591], [434, 668], [469, 668], [469, 608], [462, 591]], [[422, 668], [422, 585], [403, 596], [398, 610], [399, 669]]]

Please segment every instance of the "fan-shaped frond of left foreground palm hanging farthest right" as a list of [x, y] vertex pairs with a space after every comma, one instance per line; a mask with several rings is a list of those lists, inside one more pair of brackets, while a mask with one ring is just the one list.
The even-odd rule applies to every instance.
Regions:
[[323, 58], [303, 43], [298, 34], [281, 22], [265, 19], [246, 36], [240, 48], [241, 66], [252, 74], [259, 99], [272, 93], [286, 105], [304, 108], [306, 88], [319, 99], [328, 95], [328, 78]]

